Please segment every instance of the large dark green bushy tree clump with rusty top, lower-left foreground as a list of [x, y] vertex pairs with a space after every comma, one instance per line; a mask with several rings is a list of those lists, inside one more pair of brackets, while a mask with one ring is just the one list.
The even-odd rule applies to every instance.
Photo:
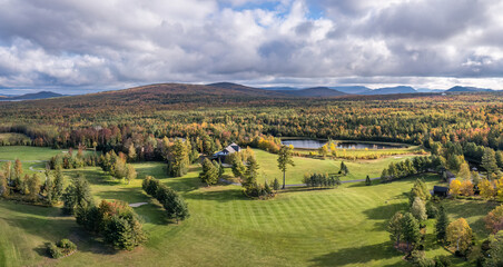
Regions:
[[78, 208], [76, 219], [116, 249], [132, 250], [147, 240], [138, 215], [124, 201], [102, 200], [99, 207]]

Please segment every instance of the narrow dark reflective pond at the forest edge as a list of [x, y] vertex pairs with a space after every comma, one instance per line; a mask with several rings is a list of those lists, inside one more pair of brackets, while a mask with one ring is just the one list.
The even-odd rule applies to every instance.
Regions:
[[[290, 139], [290, 140], [282, 140], [283, 145], [289, 146], [293, 145], [294, 148], [302, 149], [318, 149], [323, 147], [323, 145], [327, 144], [325, 140], [315, 140], [315, 139]], [[374, 144], [374, 142], [358, 142], [358, 141], [338, 141], [337, 149], [389, 149], [389, 148], [401, 148], [401, 145], [394, 144]]]

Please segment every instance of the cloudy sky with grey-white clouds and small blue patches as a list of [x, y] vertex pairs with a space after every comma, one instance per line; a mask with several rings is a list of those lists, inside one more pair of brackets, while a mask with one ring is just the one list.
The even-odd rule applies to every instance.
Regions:
[[503, 88], [501, 0], [0, 0], [0, 92]]

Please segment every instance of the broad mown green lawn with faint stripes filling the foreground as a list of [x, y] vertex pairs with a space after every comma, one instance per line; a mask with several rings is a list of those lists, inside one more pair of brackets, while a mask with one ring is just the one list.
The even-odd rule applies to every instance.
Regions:
[[[85, 174], [96, 200], [149, 202], [135, 208], [149, 235], [145, 246], [116, 253], [90, 238], [72, 218], [62, 217], [58, 208], [0, 200], [0, 266], [407, 266], [385, 229], [391, 216], [407, 207], [404, 192], [413, 179], [371, 187], [346, 184], [328, 190], [297, 188], [264, 201], [245, 198], [236, 186], [203, 187], [199, 166], [181, 178], [167, 178], [160, 162], [135, 167], [139, 177], [130, 185], [99, 168], [66, 175]], [[162, 209], [140, 189], [145, 175], [180, 191], [191, 217], [180, 225], [168, 224]], [[438, 180], [425, 178], [430, 187]], [[482, 218], [493, 205], [447, 200], [445, 206], [452, 219], [465, 217], [479, 237], [487, 235]], [[73, 240], [79, 251], [59, 260], [47, 258], [43, 244], [63, 237]], [[448, 255], [437, 246], [427, 250], [430, 257], [441, 254]]]

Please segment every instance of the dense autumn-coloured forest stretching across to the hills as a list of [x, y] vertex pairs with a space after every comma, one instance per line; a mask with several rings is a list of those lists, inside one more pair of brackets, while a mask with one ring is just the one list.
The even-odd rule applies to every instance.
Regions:
[[[292, 98], [243, 86], [154, 85], [120, 91], [0, 103], [0, 132], [32, 146], [78, 147], [161, 158], [161, 139], [190, 138], [210, 154], [270, 137], [471, 142], [503, 149], [503, 93]], [[269, 137], [269, 138], [267, 138]], [[274, 146], [274, 145], [273, 145]]]

